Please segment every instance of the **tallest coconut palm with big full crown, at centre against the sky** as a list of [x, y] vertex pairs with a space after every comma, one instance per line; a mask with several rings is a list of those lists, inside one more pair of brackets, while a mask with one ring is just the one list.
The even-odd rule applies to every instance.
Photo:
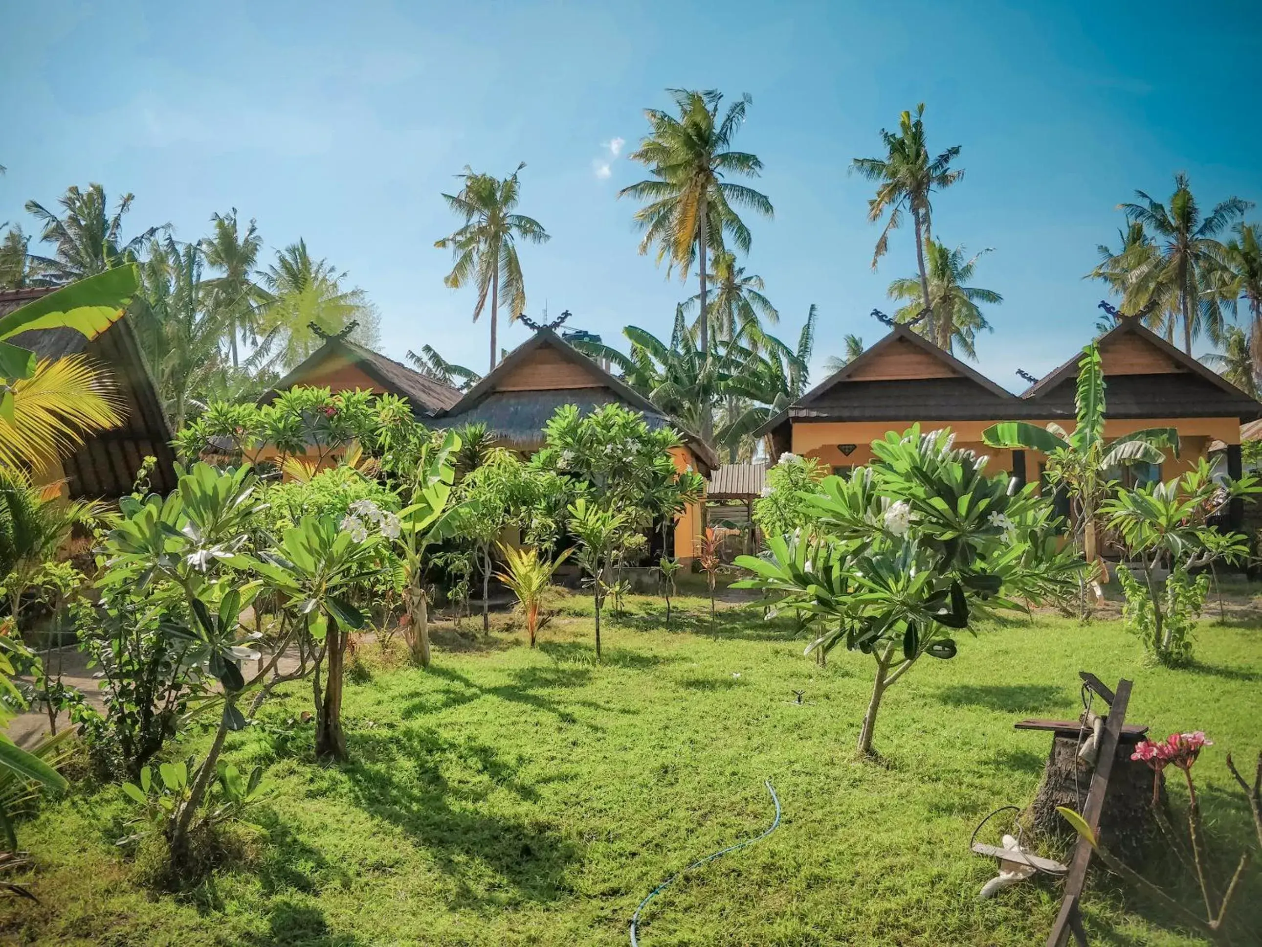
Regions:
[[[635, 213], [644, 230], [640, 253], [658, 249], [658, 263], [666, 260], [666, 275], [679, 268], [680, 279], [688, 279], [697, 264], [700, 312], [709, 312], [707, 251], [723, 250], [724, 237], [731, 237], [742, 253], [750, 250], [750, 231], [734, 207], [751, 208], [765, 217], [775, 210], [766, 194], [724, 178], [757, 177], [762, 170], [758, 157], [732, 152], [732, 139], [745, 122], [751, 104], [748, 95], [728, 106], [719, 117], [723, 95], [717, 90], [698, 92], [685, 88], [668, 90], [678, 115], [659, 109], [646, 109], [649, 134], [631, 153], [649, 173], [647, 181], [625, 187], [618, 197], [645, 201]], [[709, 321], [702, 319], [697, 350], [709, 352]], [[704, 441], [713, 437], [713, 418], [704, 414], [698, 433]]]

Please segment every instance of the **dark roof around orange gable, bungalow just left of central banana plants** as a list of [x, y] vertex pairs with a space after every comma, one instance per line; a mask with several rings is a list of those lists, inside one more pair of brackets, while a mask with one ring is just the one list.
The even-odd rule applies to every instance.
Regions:
[[[496, 384], [517, 367], [526, 356], [543, 347], [554, 348], [567, 361], [583, 367], [599, 384], [598, 388], [536, 389], [528, 391], [497, 391]], [[578, 405], [591, 412], [606, 404], [621, 403], [644, 414], [650, 427], [671, 427], [683, 434], [693, 453], [712, 470], [718, 457], [695, 434], [679, 422], [666, 417], [652, 402], [627, 385], [622, 379], [602, 369], [596, 361], [574, 348], [549, 328], [535, 331], [531, 338], [519, 345], [504, 361], [495, 366], [481, 381], [451, 408], [439, 412], [438, 418], [451, 424], [481, 420], [506, 441], [534, 447], [543, 442], [544, 424], [565, 404]]]

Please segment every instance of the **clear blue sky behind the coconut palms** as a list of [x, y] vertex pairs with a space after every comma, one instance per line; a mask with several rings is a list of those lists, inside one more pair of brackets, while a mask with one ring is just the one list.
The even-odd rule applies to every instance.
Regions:
[[[1201, 203], [1262, 205], [1256, 3], [220, 3], [6, 4], [0, 9], [0, 221], [30, 222], [68, 184], [136, 194], [131, 232], [201, 236], [215, 211], [256, 217], [269, 247], [299, 236], [382, 313], [395, 357], [423, 343], [485, 370], [487, 328], [433, 246], [463, 165], [522, 172], [521, 212], [553, 235], [522, 249], [529, 311], [622, 341], [669, 332], [694, 284], [639, 256], [642, 177], [626, 154], [668, 86], [753, 96], [737, 145], [766, 170], [772, 221], [748, 218], [747, 263], [795, 338], [820, 313], [815, 361], [883, 331], [885, 289], [914, 269], [910, 229], [877, 273], [870, 184], [851, 158], [928, 104], [930, 146], [959, 144], [964, 181], [936, 235], [993, 247], [976, 283], [1003, 294], [978, 366], [1020, 388], [1090, 335], [1119, 201], [1165, 200], [1176, 170]], [[612, 154], [611, 143], [623, 143]], [[1262, 218], [1254, 210], [1251, 218]], [[501, 328], [516, 345], [528, 330]], [[1205, 351], [1200, 343], [1195, 352]], [[817, 372], [818, 379], [818, 372]]]

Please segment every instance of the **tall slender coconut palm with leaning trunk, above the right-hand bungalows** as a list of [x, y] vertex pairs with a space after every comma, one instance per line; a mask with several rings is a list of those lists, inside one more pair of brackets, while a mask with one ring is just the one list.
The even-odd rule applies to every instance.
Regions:
[[925, 263], [925, 246], [933, 240], [931, 194], [958, 182], [964, 177], [964, 170], [950, 167], [950, 163], [959, 157], [959, 145], [952, 145], [930, 159], [924, 115], [924, 102], [916, 106], [915, 117], [911, 112], [902, 112], [899, 116], [897, 134], [881, 129], [885, 157], [856, 158], [851, 162], [851, 170], [877, 183], [876, 197], [868, 201], [868, 220], [876, 223], [888, 213], [885, 230], [881, 231], [872, 254], [873, 270], [890, 249], [890, 231], [902, 225], [904, 211], [911, 213], [916, 235], [921, 298], [930, 301], [920, 313], [920, 318], [928, 323], [928, 337], [936, 340], [941, 336], [934, 330], [933, 294], [929, 292], [929, 269]]

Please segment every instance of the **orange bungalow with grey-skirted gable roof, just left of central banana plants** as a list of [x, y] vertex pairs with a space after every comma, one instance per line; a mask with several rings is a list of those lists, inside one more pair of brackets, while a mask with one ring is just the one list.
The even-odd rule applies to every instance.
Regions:
[[[683, 444], [671, 451], [676, 470], [692, 467], [707, 476], [718, 466], [714, 452], [699, 437], [550, 328], [536, 330], [459, 402], [439, 412], [435, 423], [458, 427], [482, 422], [501, 446], [529, 453], [543, 447], [544, 426], [567, 404], [583, 412], [606, 404], [640, 412], [651, 428], [671, 427], [683, 434]], [[693, 504], [675, 524], [671, 553], [676, 558], [695, 556], [695, 540], [704, 530], [704, 499]]]

